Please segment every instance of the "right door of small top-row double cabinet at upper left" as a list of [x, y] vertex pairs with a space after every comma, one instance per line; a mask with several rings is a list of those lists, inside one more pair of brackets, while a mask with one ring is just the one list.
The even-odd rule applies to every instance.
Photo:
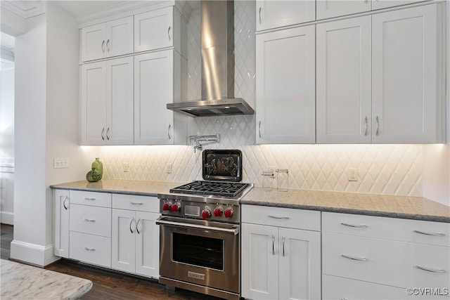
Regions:
[[133, 53], [133, 16], [106, 23], [106, 51], [108, 56]]

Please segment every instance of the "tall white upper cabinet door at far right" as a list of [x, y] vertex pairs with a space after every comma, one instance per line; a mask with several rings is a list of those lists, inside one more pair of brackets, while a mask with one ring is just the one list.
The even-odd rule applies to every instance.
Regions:
[[437, 143], [437, 4], [372, 16], [372, 142]]

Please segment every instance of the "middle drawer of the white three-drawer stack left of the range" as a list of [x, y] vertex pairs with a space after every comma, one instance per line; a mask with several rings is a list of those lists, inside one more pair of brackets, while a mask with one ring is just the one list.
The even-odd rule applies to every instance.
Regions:
[[70, 204], [70, 231], [111, 237], [111, 209]]

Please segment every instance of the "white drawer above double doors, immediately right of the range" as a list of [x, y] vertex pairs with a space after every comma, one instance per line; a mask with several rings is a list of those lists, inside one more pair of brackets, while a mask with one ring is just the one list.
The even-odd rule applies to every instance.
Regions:
[[287, 228], [321, 230], [320, 211], [243, 205], [242, 221]]

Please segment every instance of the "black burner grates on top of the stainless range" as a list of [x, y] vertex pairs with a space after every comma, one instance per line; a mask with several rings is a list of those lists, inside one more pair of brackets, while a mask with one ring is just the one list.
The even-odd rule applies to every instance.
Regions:
[[172, 188], [169, 192], [191, 195], [236, 197], [247, 187], [248, 183], [193, 181], [191, 183]]

